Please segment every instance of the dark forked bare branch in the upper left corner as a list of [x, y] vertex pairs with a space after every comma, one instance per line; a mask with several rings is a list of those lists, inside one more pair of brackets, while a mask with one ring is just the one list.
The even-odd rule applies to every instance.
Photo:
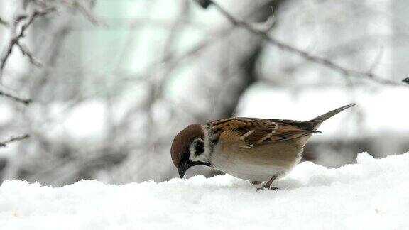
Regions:
[[[48, 13], [53, 12], [53, 11], [55, 11], [54, 8], [45, 9], [43, 11], [34, 11], [33, 14], [31, 14], [31, 16], [28, 18], [28, 21], [25, 24], [23, 24], [23, 26], [21, 26], [20, 33], [11, 37], [9, 41], [9, 45], [5, 48], [4, 53], [0, 58], [0, 79], [4, 71], [4, 67], [6, 66], [6, 62], [7, 60], [9, 60], [9, 57], [11, 55], [11, 51], [13, 50], [14, 45], [18, 45], [21, 52], [29, 58], [29, 60], [33, 63], [33, 65], [38, 66], [39, 62], [33, 58], [33, 55], [28, 51], [27, 48], [25, 48], [25, 46], [20, 44], [20, 40], [24, 37], [24, 35], [26, 35], [27, 28], [33, 23], [33, 21], [36, 18], [45, 16]], [[24, 18], [27, 18], [27, 16], [22, 15], [22, 16], [16, 17], [15, 29], [17, 28], [18, 23], [22, 21]]]

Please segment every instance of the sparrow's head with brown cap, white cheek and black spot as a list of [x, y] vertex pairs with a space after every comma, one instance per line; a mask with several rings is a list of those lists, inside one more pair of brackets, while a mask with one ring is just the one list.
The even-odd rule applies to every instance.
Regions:
[[173, 164], [183, 178], [188, 168], [194, 165], [208, 165], [205, 157], [205, 133], [200, 124], [192, 124], [180, 131], [173, 139], [170, 155]]

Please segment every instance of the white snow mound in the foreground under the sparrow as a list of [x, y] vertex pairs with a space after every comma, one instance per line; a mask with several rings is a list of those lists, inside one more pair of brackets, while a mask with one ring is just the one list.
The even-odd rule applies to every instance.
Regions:
[[229, 175], [65, 187], [5, 181], [0, 229], [409, 229], [409, 153], [300, 163], [262, 190]]

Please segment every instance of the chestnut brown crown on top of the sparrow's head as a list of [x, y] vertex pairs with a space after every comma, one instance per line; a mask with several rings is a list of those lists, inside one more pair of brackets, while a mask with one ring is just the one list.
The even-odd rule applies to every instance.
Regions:
[[175, 136], [172, 147], [170, 148], [170, 155], [172, 156], [173, 164], [176, 167], [180, 166], [183, 153], [189, 151], [190, 144], [197, 138], [202, 140], [205, 138], [205, 134], [203, 133], [200, 124], [191, 124]]

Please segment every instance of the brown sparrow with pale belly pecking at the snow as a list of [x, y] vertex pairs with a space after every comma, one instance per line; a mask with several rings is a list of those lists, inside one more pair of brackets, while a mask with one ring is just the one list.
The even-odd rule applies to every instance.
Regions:
[[188, 168], [207, 165], [252, 184], [271, 184], [301, 160], [312, 133], [323, 121], [355, 104], [317, 116], [310, 121], [231, 117], [191, 124], [173, 139], [170, 155], [183, 178]]

